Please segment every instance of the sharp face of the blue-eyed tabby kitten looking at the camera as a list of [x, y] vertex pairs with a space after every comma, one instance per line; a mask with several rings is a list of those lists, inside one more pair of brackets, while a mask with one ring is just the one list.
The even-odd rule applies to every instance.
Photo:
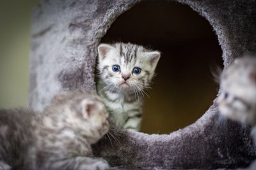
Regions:
[[142, 90], [149, 86], [160, 53], [147, 52], [143, 46], [116, 43], [98, 47], [100, 78], [109, 89]]

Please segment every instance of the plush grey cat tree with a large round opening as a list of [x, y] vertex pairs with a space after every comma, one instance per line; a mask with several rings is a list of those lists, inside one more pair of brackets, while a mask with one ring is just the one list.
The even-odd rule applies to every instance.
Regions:
[[[256, 51], [256, 1], [177, 2], [188, 4], [209, 21], [223, 50], [225, 66]], [[30, 106], [43, 110], [62, 90], [95, 90], [97, 45], [115, 19], [138, 3], [41, 1], [32, 20]], [[250, 127], [222, 118], [214, 104], [194, 124], [171, 134], [111, 131], [118, 142], [104, 138], [93, 146], [93, 152], [112, 166], [235, 168], [248, 166], [256, 157]]]

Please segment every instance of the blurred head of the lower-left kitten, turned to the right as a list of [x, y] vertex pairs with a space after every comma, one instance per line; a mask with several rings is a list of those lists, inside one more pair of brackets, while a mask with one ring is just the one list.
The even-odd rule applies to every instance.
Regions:
[[65, 118], [68, 127], [82, 136], [91, 136], [97, 141], [108, 132], [108, 112], [95, 94], [70, 92], [56, 96], [53, 103], [53, 107]]

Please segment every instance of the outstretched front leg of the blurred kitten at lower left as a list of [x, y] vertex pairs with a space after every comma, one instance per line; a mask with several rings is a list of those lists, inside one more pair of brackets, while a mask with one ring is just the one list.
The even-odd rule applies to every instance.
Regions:
[[42, 169], [48, 170], [97, 170], [108, 169], [109, 164], [104, 159], [91, 157], [74, 157], [70, 159], [49, 161], [44, 164]]

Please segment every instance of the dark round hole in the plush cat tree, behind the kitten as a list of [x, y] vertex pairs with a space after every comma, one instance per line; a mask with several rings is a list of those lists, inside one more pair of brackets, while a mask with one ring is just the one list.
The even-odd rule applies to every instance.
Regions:
[[143, 1], [116, 18], [102, 43], [150, 46], [162, 53], [145, 96], [141, 131], [165, 134], [186, 127], [211, 106], [218, 92], [211, 68], [222, 67], [211, 25], [189, 6]]

